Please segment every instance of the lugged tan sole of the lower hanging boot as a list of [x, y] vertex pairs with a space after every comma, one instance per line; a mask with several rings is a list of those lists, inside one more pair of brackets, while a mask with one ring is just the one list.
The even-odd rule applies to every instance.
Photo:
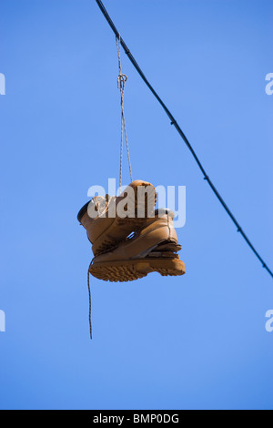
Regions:
[[139, 280], [151, 272], [158, 272], [162, 276], [181, 276], [185, 273], [185, 264], [177, 259], [107, 261], [91, 265], [89, 271], [98, 280], [126, 282]]

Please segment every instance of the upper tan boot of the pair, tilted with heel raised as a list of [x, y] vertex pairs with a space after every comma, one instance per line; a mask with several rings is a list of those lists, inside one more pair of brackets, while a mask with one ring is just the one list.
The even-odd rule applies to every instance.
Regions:
[[79, 211], [77, 219], [87, 231], [94, 255], [115, 247], [143, 227], [154, 215], [157, 192], [147, 181], [133, 181], [118, 197], [95, 197]]

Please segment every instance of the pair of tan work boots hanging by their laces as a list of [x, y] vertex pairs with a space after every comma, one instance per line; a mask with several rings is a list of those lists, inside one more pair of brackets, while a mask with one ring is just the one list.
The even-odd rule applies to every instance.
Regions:
[[137, 280], [157, 271], [163, 276], [183, 275], [177, 255], [181, 246], [174, 228], [174, 213], [156, 209], [156, 189], [146, 181], [133, 181], [118, 198], [95, 197], [78, 213], [95, 258], [90, 273], [99, 280]]

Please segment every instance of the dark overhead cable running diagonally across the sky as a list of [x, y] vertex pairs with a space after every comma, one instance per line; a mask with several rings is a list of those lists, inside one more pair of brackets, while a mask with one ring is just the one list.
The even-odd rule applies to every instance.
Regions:
[[131, 52], [129, 51], [128, 47], [126, 46], [125, 41], [123, 40], [123, 38], [120, 36], [119, 32], [116, 29], [116, 25], [113, 23], [112, 19], [110, 18], [110, 16], [108, 15], [106, 8], [104, 6], [104, 4], [102, 3], [101, 0], [96, 0], [97, 5], [99, 6], [100, 10], [102, 11], [103, 15], [106, 18], [107, 23], [110, 25], [110, 27], [112, 28], [115, 36], [117, 38], [120, 37], [120, 45], [124, 48], [124, 51], [126, 53], [126, 56], [128, 56], [129, 60], [131, 61], [131, 63], [133, 64], [133, 66], [135, 66], [137, 73], [139, 74], [139, 76], [142, 77], [142, 79], [144, 80], [144, 82], [146, 83], [147, 87], [150, 89], [150, 91], [152, 92], [152, 94], [157, 98], [157, 101], [159, 102], [159, 104], [164, 108], [165, 112], [167, 113], [167, 117], [170, 119], [171, 121], [171, 125], [173, 125], [174, 127], [176, 127], [178, 134], [180, 135], [181, 138], [183, 138], [184, 142], [187, 145], [187, 148], [190, 150], [192, 156], [195, 158], [198, 167], [201, 169], [201, 172], [204, 176], [204, 179], [207, 180], [208, 185], [210, 186], [210, 188], [212, 189], [212, 191], [214, 192], [214, 194], [216, 195], [217, 199], [219, 200], [219, 202], [221, 203], [221, 205], [223, 206], [223, 208], [227, 211], [228, 216], [230, 217], [230, 219], [232, 219], [233, 223], [235, 224], [235, 226], [237, 227], [238, 232], [242, 235], [242, 237], [246, 240], [248, 246], [250, 247], [250, 249], [254, 252], [254, 254], [256, 255], [256, 257], [258, 258], [258, 260], [261, 262], [263, 268], [265, 268], [266, 270], [268, 270], [269, 275], [271, 275], [271, 277], [273, 278], [273, 273], [272, 271], [268, 268], [268, 265], [265, 263], [265, 261], [260, 257], [260, 255], [258, 254], [258, 251], [253, 247], [253, 245], [251, 244], [250, 240], [248, 239], [246, 233], [243, 231], [243, 229], [240, 227], [240, 225], [238, 224], [237, 219], [235, 219], [234, 215], [232, 214], [232, 212], [230, 211], [230, 209], [228, 209], [226, 202], [224, 201], [224, 199], [221, 197], [221, 195], [219, 194], [219, 192], [217, 191], [216, 187], [214, 186], [214, 184], [212, 183], [212, 181], [210, 180], [210, 178], [207, 176], [207, 172], [205, 171], [205, 169], [203, 168], [200, 160], [197, 158], [197, 154], [194, 151], [194, 149], [191, 147], [191, 145], [189, 144], [189, 141], [187, 139], [187, 137], [185, 136], [184, 132], [182, 131], [181, 127], [179, 127], [179, 125], [177, 124], [177, 120], [175, 119], [175, 117], [173, 117], [173, 115], [171, 114], [171, 112], [168, 110], [168, 108], [166, 107], [166, 105], [164, 104], [164, 102], [162, 101], [162, 99], [158, 96], [157, 92], [155, 91], [155, 89], [150, 85], [150, 83], [148, 82], [146, 76], [144, 75], [143, 71], [141, 70], [140, 66], [138, 66], [138, 64], [136, 63], [136, 59], [134, 58], [134, 56], [132, 56]]

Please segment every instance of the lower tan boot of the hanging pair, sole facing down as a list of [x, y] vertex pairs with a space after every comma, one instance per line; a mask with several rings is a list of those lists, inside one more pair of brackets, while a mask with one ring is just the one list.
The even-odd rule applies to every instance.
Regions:
[[181, 246], [174, 229], [174, 213], [157, 209], [154, 219], [147, 219], [145, 226], [135, 236], [121, 242], [116, 250], [95, 257], [90, 273], [99, 280], [137, 280], [150, 272], [163, 276], [183, 275], [185, 265], [177, 255]]

